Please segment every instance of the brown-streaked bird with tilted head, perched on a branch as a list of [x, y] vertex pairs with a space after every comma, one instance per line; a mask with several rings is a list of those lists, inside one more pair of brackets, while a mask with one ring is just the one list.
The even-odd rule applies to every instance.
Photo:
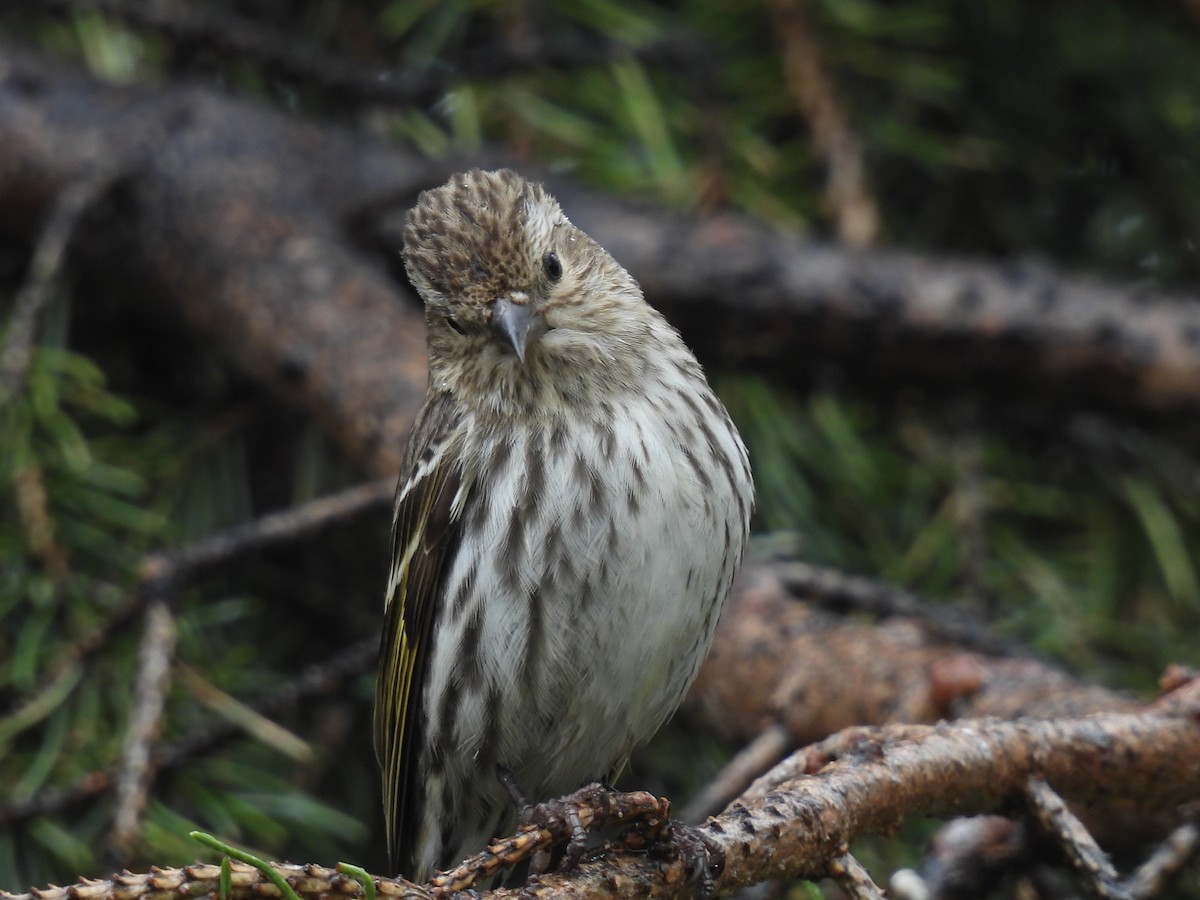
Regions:
[[713, 638], [754, 504], [679, 334], [540, 185], [408, 214], [430, 388], [396, 494], [376, 688], [392, 865], [427, 880], [534, 799], [614, 776]]

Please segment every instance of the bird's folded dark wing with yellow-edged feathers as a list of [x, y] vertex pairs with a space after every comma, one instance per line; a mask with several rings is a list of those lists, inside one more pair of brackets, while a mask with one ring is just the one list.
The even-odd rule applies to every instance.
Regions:
[[458, 416], [444, 395], [427, 401], [406, 452], [407, 480], [396, 496], [391, 578], [376, 680], [374, 744], [383, 768], [391, 865], [412, 872], [422, 791], [418, 773], [422, 691], [444, 574], [458, 545], [462, 467], [452, 452]]

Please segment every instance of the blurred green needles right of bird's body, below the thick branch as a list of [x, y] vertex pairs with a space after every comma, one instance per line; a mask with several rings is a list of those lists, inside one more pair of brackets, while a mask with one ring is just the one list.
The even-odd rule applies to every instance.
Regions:
[[763, 530], [794, 532], [802, 557], [985, 599], [1013, 636], [1112, 684], [1152, 690], [1195, 660], [1200, 496], [1174, 442], [1081, 416], [1031, 446], [982, 430], [970, 406], [881, 413], [836, 391], [721, 388]]

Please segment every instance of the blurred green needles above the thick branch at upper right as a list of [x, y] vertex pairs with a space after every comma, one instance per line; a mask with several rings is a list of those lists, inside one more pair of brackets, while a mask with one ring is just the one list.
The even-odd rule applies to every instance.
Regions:
[[[415, 66], [469, 58], [479, 32], [512, 25], [503, 4], [389, 10]], [[1158, 284], [1196, 276], [1200, 74], [1178, 6], [827, 0], [811, 12], [892, 242]], [[541, 13], [524, 24], [547, 42], [690, 40], [692, 58], [476, 82], [397, 114], [396, 134], [436, 154], [480, 134], [517, 142], [618, 192], [824, 227], [823, 164], [763, 8], [592, 0]]]

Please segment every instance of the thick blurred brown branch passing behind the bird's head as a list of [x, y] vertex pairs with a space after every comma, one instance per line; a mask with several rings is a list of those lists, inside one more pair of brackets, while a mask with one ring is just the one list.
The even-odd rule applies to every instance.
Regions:
[[[124, 178], [76, 242], [80, 276], [174, 310], [354, 458], [395, 472], [425, 382], [420, 312], [388, 274], [398, 222], [419, 190], [499, 160], [421, 161], [206, 91], [103, 86], [0, 50], [0, 232], [32, 240], [97, 157]], [[834, 361], [866, 382], [1042, 406], [1200, 407], [1190, 299], [1033, 265], [851, 252], [547, 181], [709, 364], [803, 380]]]

